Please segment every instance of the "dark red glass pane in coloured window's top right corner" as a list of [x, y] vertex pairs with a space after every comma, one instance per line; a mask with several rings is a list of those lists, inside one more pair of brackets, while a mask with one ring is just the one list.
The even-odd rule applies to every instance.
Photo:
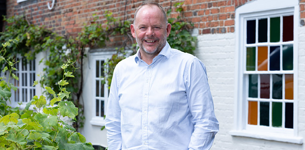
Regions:
[[283, 42], [293, 41], [293, 15], [283, 16]]

